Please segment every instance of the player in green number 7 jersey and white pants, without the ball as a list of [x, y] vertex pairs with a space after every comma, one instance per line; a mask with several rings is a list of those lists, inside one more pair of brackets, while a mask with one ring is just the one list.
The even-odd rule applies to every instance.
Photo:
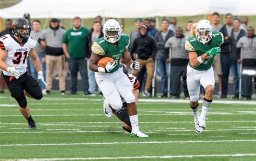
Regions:
[[[196, 36], [186, 40], [185, 48], [189, 52], [190, 59], [187, 65], [187, 89], [198, 133], [206, 128], [205, 117], [212, 103], [215, 82], [212, 64], [215, 55], [220, 54], [220, 45], [223, 42], [223, 34], [212, 31], [212, 24], [205, 19], [197, 23]], [[199, 116], [200, 85], [205, 88], [205, 96]]]

